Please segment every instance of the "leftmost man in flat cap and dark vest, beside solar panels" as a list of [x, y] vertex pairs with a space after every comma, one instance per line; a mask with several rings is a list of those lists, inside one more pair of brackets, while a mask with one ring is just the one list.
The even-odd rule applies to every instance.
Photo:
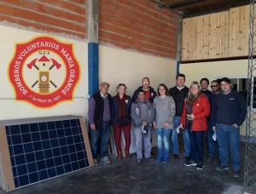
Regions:
[[110, 163], [107, 157], [111, 119], [111, 95], [108, 94], [108, 88], [109, 83], [101, 83], [100, 90], [89, 100], [90, 146], [95, 164], [99, 150], [102, 163]]

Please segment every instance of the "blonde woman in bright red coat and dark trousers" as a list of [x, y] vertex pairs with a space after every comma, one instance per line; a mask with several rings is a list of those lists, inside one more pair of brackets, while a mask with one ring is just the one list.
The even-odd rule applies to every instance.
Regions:
[[207, 117], [210, 114], [210, 104], [206, 94], [201, 93], [200, 84], [192, 82], [189, 94], [183, 105], [183, 113], [179, 128], [187, 128], [190, 140], [190, 160], [186, 166], [204, 168], [204, 132], [207, 131]]

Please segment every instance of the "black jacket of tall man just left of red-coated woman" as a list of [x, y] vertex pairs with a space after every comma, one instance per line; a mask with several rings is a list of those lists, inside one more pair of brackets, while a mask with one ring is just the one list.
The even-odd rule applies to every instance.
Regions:
[[186, 86], [181, 90], [179, 90], [177, 86], [170, 88], [170, 94], [172, 95], [172, 98], [174, 99], [176, 106], [175, 116], [181, 117], [183, 111], [183, 103], [188, 93], [189, 88]]

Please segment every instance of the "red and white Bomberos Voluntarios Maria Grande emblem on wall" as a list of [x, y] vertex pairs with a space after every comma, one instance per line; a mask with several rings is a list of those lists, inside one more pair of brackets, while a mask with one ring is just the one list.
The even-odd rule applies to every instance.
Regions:
[[79, 73], [73, 45], [52, 37], [17, 43], [9, 63], [9, 80], [15, 88], [16, 100], [38, 107], [72, 100]]

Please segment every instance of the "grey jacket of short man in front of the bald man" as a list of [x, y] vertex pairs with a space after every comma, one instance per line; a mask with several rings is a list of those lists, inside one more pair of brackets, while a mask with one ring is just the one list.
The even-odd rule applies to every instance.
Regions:
[[141, 127], [143, 121], [148, 124], [148, 127], [152, 126], [154, 122], [154, 107], [149, 100], [140, 102], [135, 100], [131, 104], [131, 118], [134, 123], [134, 127]]

